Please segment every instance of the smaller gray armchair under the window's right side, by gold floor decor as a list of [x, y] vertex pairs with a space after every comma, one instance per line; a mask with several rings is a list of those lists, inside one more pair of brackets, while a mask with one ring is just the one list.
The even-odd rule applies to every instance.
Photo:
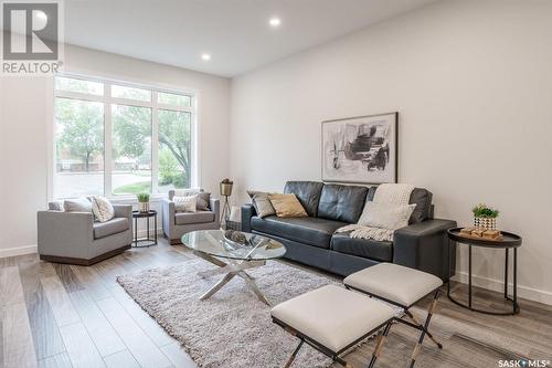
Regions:
[[180, 244], [183, 234], [194, 230], [220, 228], [221, 203], [212, 198], [209, 211], [177, 212], [174, 210], [174, 190], [169, 190], [169, 198], [162, 200], [163, 233], [171, 244]]

